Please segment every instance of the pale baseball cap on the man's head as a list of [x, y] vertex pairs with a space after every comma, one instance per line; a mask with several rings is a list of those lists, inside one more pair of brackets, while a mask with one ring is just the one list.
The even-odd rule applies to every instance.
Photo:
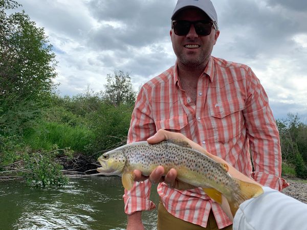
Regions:
[[217, 14], [210, 0], [178, 0], [176, 7], [171, 15], [171, 19], [173, 20], [178, 12], [189, 7], [196, 7], [204, 11], [217, 28]]

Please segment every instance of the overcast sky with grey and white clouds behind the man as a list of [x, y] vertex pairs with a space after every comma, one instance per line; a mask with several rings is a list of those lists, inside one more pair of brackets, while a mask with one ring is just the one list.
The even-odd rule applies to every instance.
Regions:
[[[60, 95], [103, 90], [107, 74], [129, 73], [136, 89], [174, 64], [170, 16], [177, 0], [17, 0], [45, 28]], [[275, 118], [307, 122], [307, 1], [212, 0], [220, 37], [213, 56], [247, 64]]]

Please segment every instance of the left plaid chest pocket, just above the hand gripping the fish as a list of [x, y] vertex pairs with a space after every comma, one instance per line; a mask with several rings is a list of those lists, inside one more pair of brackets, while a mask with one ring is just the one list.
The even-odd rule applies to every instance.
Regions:
[[165, 129], [172, 132], [183, 132], [183, 128], [188, 124], [186, 114], [175, 116], [169, 119], [156, 120], [157, 131], [159, 129]]

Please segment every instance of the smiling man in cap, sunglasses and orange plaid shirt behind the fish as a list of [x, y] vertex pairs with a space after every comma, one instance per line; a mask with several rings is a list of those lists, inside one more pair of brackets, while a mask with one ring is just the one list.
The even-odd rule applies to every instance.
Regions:
[[[248, 66], [211, 56], [220, 34], [211, 1], [179, 0], [171, 19], [177, 61], [142, 86], [128, 143], [144, 141], [159, 129], [180, 132], [261, 185], [287, 187], [280, 178], [278, 130], [264, 88]], [[151, 181], [163, 173], [157, 168]], [[174, 177], [176, 171], [170, 171], [165, 178], [170, 187], [158, 186], [158, 229], [231, 229], [220, 205], [201, 188], [180, 190]], [[151, 181], [125, 191], [127, 229], [144, 229], [141, 211], [155, 208], [149, 200]]]

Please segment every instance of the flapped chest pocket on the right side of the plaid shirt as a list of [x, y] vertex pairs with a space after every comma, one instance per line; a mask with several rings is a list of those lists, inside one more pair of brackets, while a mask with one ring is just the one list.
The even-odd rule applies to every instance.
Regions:
[[228, 143], [245, 129], [242, 110], [245, 109], [245, 100], [235, 98], [211, 105], [210, 120], [214, 133], [214, 142]]

